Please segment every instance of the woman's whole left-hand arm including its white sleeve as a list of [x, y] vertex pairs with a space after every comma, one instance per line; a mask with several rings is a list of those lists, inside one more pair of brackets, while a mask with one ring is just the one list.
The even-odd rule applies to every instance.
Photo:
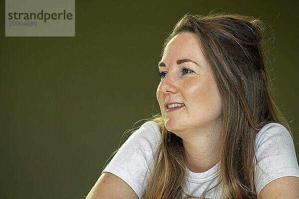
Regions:
[[142, 198], [160, 139], [159, 133], [159, 126], [153, 121], [145, 122], [132, 133], [101, 172], [86, 199]]

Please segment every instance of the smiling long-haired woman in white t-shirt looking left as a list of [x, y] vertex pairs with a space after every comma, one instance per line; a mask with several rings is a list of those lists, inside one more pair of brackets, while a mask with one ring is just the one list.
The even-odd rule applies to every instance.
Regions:
[[269, 95], [262, 25], [186, 15], [165, 40], [161, 115], [116, 153], [87, 199], [295, 199], [288, 123]]

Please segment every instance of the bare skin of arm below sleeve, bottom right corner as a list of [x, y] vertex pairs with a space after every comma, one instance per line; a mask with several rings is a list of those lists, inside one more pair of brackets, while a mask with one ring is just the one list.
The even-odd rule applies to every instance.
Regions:
[[288, 176], [267, 184], [259, 199], [299, 199], [299, 178]]

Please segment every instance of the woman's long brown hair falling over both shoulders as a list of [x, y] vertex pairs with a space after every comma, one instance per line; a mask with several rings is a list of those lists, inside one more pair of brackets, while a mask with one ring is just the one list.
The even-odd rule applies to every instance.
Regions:
[[[222, 183], [225, 199], [257, 199], [254, 183], [257, 132], [271, 122], [281, 123], [291, 132], [270, 95], [262, 48], [263, 29], [260, 20], [249, 16], [188, 14], [177, 22], [162, 48], [161, 55], [175, 35], [194, 33], [213, 71], [223, 100], [221, 181], [216, 186]], [[186, 177], [182, 139], [167, 131], [161, 115], [152, 121], [160, 126], [161, 140], [143, 199], [181, 199]]]

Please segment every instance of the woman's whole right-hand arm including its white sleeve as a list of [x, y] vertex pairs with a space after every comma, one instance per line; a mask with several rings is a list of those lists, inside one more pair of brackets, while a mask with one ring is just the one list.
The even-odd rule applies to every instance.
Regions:
[[257, 134], [255, 172], [258, 199], [299, 199], [299, 166], [289, 131], [279, 123]]

